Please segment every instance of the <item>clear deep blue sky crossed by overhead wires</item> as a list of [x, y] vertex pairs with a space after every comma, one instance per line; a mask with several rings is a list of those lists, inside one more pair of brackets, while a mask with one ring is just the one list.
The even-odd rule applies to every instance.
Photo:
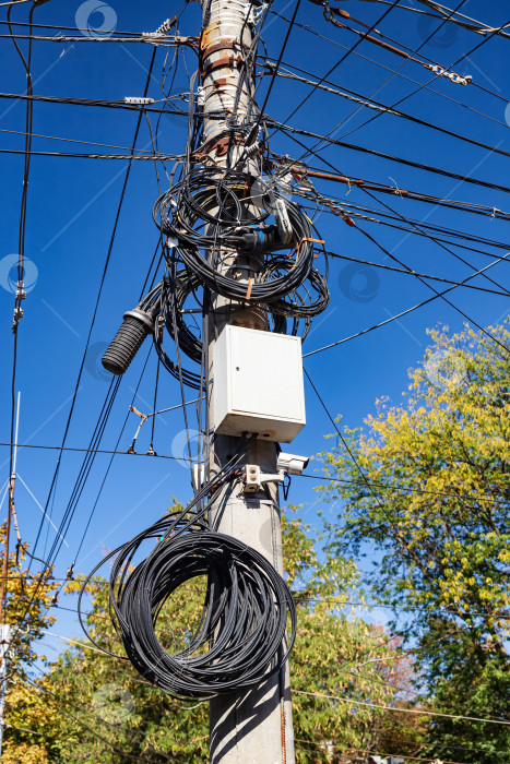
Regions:
[[[99, 7], [96, 3], [96, 8]], [[408, 4], [418, 7], [408, 0]], [[26, 22], [29, 3], [13, 11], [13, 19]], [[343, 2], [356, 19], [372, 24], [386, 7], [379, 3], [349, 0]], [[55, 31], [40, 29], [40, 34], [52, 35], [59, 27], [76, 25], [105, 25], [121, 32], [155, 29], [177, 5], [163, 5], [155, 0], [135, 3], [112, 0], [102, 4], [94, 14], [91, 3], [70, 3], [51, 0], [36, 9], [34, 21], [57, 25]], [[1, 20], [5, 9], [0, 9]], [[277, 0], [274, 10], [289, 16], [294, 2]], [[464, 13], [488, 24], [498, 25], [508, 21], [508, 5], [502, 0], [488, 4], [479, 0], [464, 2]], [[490, 14], [490, 17], [488, 16]], [[357, 37], [346, 29], [328, 24], [321, 9], [306, 0], [299, 8], [297, 21], [333, 39], [339, 45], [351, 47]], [[378, 29], [402, 44], [416, 49], [432, 33], [437, 22], [430, 23], [404, 10], [393, 10]], [[1, 33], [8, 35], [2, 24]], [[181, 34], [197, 35], [200, 28], [200, 7], [191, 2], [181, 15]], [[286, 33], [287, 23], [274, 15], [269, 16], [263, 37], [269, 55], [276, 58]], [[17, 27], [21, 34], [26, 27]], [[444, 68], [451, 67], [477, 43], [478, 35], [443, 27], [422, 48], [422, 53]], [[26, 40], [21, 40], [26, 47]], [[25, 74], [12, 40], [0, 40], [2, 51], [2, 89], [5, 93], [23, 93]], [[157, 52], [149, 95], [161, 95], [161, 73], [165, 50]], [[333, 43], [320, 39], [310, 32], [293, 29], [283, 61], [323, 76], [339, 61], [345, 50]], [[373, 97], [393, 105], [418, 85], [394, 75], [388, 70], [400, 68], [400, 74], [417, 83], [427, 83], [430, 72], [414, 62], [363, 41], [355, 53], [347, 57], [331, 81], [340, 87]], [[146, 70], [152, 47], [141, 44], [120, 43], [72, 43], [35, 41], [33, 50], [34, 92], [38, 95], [56, 95], [94, 99], [122, 99], [140, 96], [146, 80]], [[370, 62], [373, 59], [377, 63]], [[469, 59], [454, 69], [461, 75], [471, 74], [473, 81], [496, 95], [474, 85], [453, 84], [442, 77], [430, 87], [419, 92], [401, 108], [450, 131], [459, 132], [477, 141], [510, 151], [510, 134], [506, 121], [508, 96], [508, 40], [494, 37]], [[192, 52], [186, 52], [186, 65], [191, 73], [195, 69]], [[188, 77], [185, 61], [181, 61], [175, 80], [174, 92], [186, 92]], [[377, 65], [379, 64], [379, 65]], [[269, 84], [261, 86], [260, 100]], [[389, 79], [388, 82], [386, 82]], [[278, 121], [285, 121], [299, 100], [309, 92], [303, 83], [276, 79], [266, 112]], [[454, 100], [460, 103], [454, 103]], [[182, 102], [181, 102], [182, 103]], [[462, 106], [464, 105], [464, 107]], [[470, 109], [465, 108], [470, 107]], [[292, 118], [290, 124], [321, 134], [328, 133], [339, 122], [344, 123], [335, 132], [336, 138], [375, 148], [379, 152], [434, 165], [461, 175], [470, 175], [495, 183], [505, 184], [510, 159], [487, 150], [469, 145], [452, 136], [429, 128], [412, 123], [399, 117], [383, 115], [366, 127], [359, 127], [375, 115], [366, 108], [325, 92], [316, 92], [307, 104]], [[483, 112], [476, 114], [474, 110]], [[508, 110], [507, 110], [508, 115]], [[491, 119], [488, 119], [490, 117]], [[159, 148], [179, 154], [185, 148], [186, 126], [178, 117], [166, 117], [158, 131]], [[153, 126], [155, 119], [152, 119]], [[75, 105], [36, 103], [34, 105], [34, 133], [54, 135], [78, 141], [92, 141], [116, 146], [130, 146], [133, 140], [137, 115], [126, 110], [81, 107]], [[24, 131], [25, 105], [19, 100], [0, 98], [0, 128]], [[354, 131], [354, 132], [353, 132]], [[4, 148], [23, 148], [23, 136], [1, 133]], [[310, 139], [297, 136], [307, 145]], [[150, 147], [146, 122], [142, 122], [138, 147]], [[271, 141], [272, 151], [299, 157], [303, 153], [288, 133], [280, 132]], [[33, 151], [95, 152], [96, 148], [55, 140], [34, 138]], [[97, 148], [97, 153], [107, 148]], [[120, 153], [111, 150], [112, 153]], [[471, 201], [500, 211], [510, 208], [507, 193], [469, 186], [460, 181], [406, 167], [368, 154], [344, 147], [329, 146], [320, 155], [339, 172], [412, 189], [442, 198]], [[13, 256], [17, 253], [17, 222], [23, 178], [23, 156], [1, 155], [2, 183], [1, 204], [3, 211], [2, 250], [0, 251], [0, 326], [4, 373], [1, 379], [2, 406], [1, 441], [9, 441], [10, 386], [12, 362], [12, 309], [13, 294], [10, 279]], [[328, 171], [325, 165], [312, 158], [311, 163]], [[117, 205], [120, 198], [127, 163], [124, 160], [99, 160], [90, 158], [63, 158], [34, 156], [29, 178], [28, 214], [25, 253], [31, 261], [27, 270], [31, 288], [24, 301], [24, 318], [20, 324], [16, 391], [21, 392], [20, 443], [58, 445], [62, 439], [70, 402], [85, 348], [97, 289], [106, 260]], [[162, 182], [165, 175], [162, 172]], [[165, 179], [166, 180], [166, 179]], [[163, 183], [163, 186], [165, 186]], [[343, 198], [345, 203], [378, 207], [378, 202], [363, 191], [345, 186], [317, 181], [316, 188], [323, 194]], [[152, 206], [158, 195], [154, 164], [133, 163], [122, 206], [117, 237], [106, 274], [104, 290], [91, 337], [91, 350], [81, 382], [68, 445], [86, 447], [97, 416], [100, 411], [108, 381], [100, 369], [99, 356], [106, 343], [114, 336], [124, 310], [137, 303], [140, 289], [157, 243], [157, 231], [152, 219]], [[505, 220], [470, 215], [467, 213], [435, 207], [399, 196], [381, 195], [382, 202], [400, 214], [436, 225], [447, 226], [481, 237], [506, 241]], [[380, 207], [383, 211], [382, 207]], [[348, 256], [384, 262], [384, 254], [368, 241], [356, 228], [351, 228], [340, 218], [322, 213], [317, 226], [328, 249]], [[434, 242], [404, 234], [392, 228], [358, 222], [371, 236], [406, 265], [417, 271], [432, 273], [461, 280], [470, 274], [470, 267]], [[476, 246], [475, 246], [476, 247]], [[454, 248], [476, 268], [489, 262], [485, 254], [465, 252]], [[489, 251], [489, 250], [487, 250]], [[495, 250], [496, 251], [496, 250]], [[499, 255], [503, 251], [498, 251]], [[387, 261], [388, 262], [388, 261]], [[501, 263], [491, 268], [491, 277], [503, 287], [510, 287], [509, 265]], [[481, 286], [494, 286], [477, 277]], [[354, 267], [346, 261], [330, 262], [329, 285], [331, 305], [316, 319], [304, 345], [304, 351], [320, 348], [343, 337], [348, 337], [373, 324], [384, 321], [431, 296], [431, 291], [413, 277], [378, 271], [366, 266]], [[449, 299], [477, 323], [486, 326], [502, 321], [508, 312], [508, 299], [471, 289], [458, 288]], [[464, 318], [442, 300], [434, 300], [419, 310], [382, 326], [371, 333], [352, 339], [335, 348], [313, 355], [306, 368], [321, 391], [331, 413], [342, 415], [349, 427], [359, 426], [364, 417], [373, 411], [376, 398], [389, 396], [398, 401], [407, 384], [407, 369], [416, 366], [427, 346], [428, 327], [448, 325], [452, 331], [462, 327]], [[146, 349], [149, 348], [149, 345]], [[133, 390], [138, 383], [146, 349], [133, 362], [120, 385], [100, 447], [112, 449], [128, 413]], [[156, 361], [154, 354], [147, 365], [140, 385], [135, 406], [145, 413], [152, 410]], [[289, 449], [295, 453], [315, 454], [324, 447], [323, 435], [331, 425], [318, 403], [313, 391], [306, 387], [308, 425]], [[188, 399], [194, 397], [189, 391]], [[158, 408], [177, 405], [180, 393], [177, 382], [164, 370], [158, 390]], [[120, 442], [126, 451], [138, 427], [139, 419], [131, 414]], [[149, 446], [146, 423], [139, 440], [139, 451]], [[154, 445], [161, 454], [182, 455], [183, 420], [180, 410], [157, 419]], [[3, 482], [9, 477], [9, 449], [1, 447]], [[56, 451], [20, 449], [17, 473], [26, 482], [37, 501], [45, 505], [56, 466]], [[73, 522], [67, 534], [69, 548], [63, 547], [57, 560], [56, 575], [74, 559], [78, 545], [88, 518], [92, 505], [104, 479], [109, 457], [98, 454], [90, 479], [78, 504]], [[68, 504], [83, 454], [67, 453], [62, 458], [57, 491], [51, 504], [54, 522], [58, 525]], [[313, 469], [310, 465], [309, 471]], [[186, 502], [191, 497], [189, 473], [178, 462], [119, 455], [114, 459], [94, 520], [88, 529], [83, 550], [76, 561], [76, 570], [86, 572], [102, 557], [103, 551], [115, 548], [134, 533], [156, 518], [176, 497]], [[311, 480], [293, 482], [289, 500], [303, 503], [307, 522], [313, 524], [317, 512], [317, 496]], [[2, 508], [5, 511], [5, 504]], [[23, 540], [32, 542], [40, 520], [40, 510], [22, 484], [16, 488], [16, 511]], [[55, 532], [45, 524], [48, 547]], [[44, 541], [44, 539], [43, 539]], [[38, 550], [44, 552], [45, 542]], [[47, 547], [47, 548], [48, 548]], [[71, 600], [64, 602], [73, 607]], [[72, 614], [56, 611], [57, 633], [76, 633]]]

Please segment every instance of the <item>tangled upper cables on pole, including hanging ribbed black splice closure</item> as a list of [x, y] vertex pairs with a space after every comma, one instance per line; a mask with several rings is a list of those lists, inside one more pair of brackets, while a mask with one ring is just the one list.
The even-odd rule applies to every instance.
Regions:
[[[328, 307], [330, 296], [327, 275], [312, 267], [313, 244], [323, 241], [312, 238], [313, 224], [287, 198], [288, 192], [289, 187], [278, 179], [202, 167], [163, 194], [153, 216], [168, 237], [169, 250], [164, 250], [168, 273], [124, 314], [103, 358], [105, 368], [124, 373], [152, 332], [167, 371], [187, 386], [202, 390], [203, 375], [183, 369], [180, 360], [185, 355], [203, 362], [200, 326], [197, 321], [190, 326], [185, 319], [190, 297], [197, 306], [191, 312], [203, 309], [199, 291], [220, 294], [237, 306], [264, 306], [271, 331], [286, 334], [289, 319], [289, 334], [304, 339], [311, 319]], [[327, 258], [324, 262], [328, 268]], [[176, 344], [177, 361], [163, 347], [163, 326]]]

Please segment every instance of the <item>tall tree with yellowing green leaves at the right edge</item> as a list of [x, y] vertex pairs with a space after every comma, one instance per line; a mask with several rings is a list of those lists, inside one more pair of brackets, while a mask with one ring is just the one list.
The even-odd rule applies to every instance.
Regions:
[[[340, 444], [322, 455], [344, 482], [320, 490], [342, 508], [331, 551], [371, 557], [372, 596], [418, 645], [432, 706], [510, 721], [510, 333], [490, 333], [431, 332], [403, 403], [345, 431], [355, 463]], [[503, 764], [510, 727], [435, 717], [428, 743]]]

